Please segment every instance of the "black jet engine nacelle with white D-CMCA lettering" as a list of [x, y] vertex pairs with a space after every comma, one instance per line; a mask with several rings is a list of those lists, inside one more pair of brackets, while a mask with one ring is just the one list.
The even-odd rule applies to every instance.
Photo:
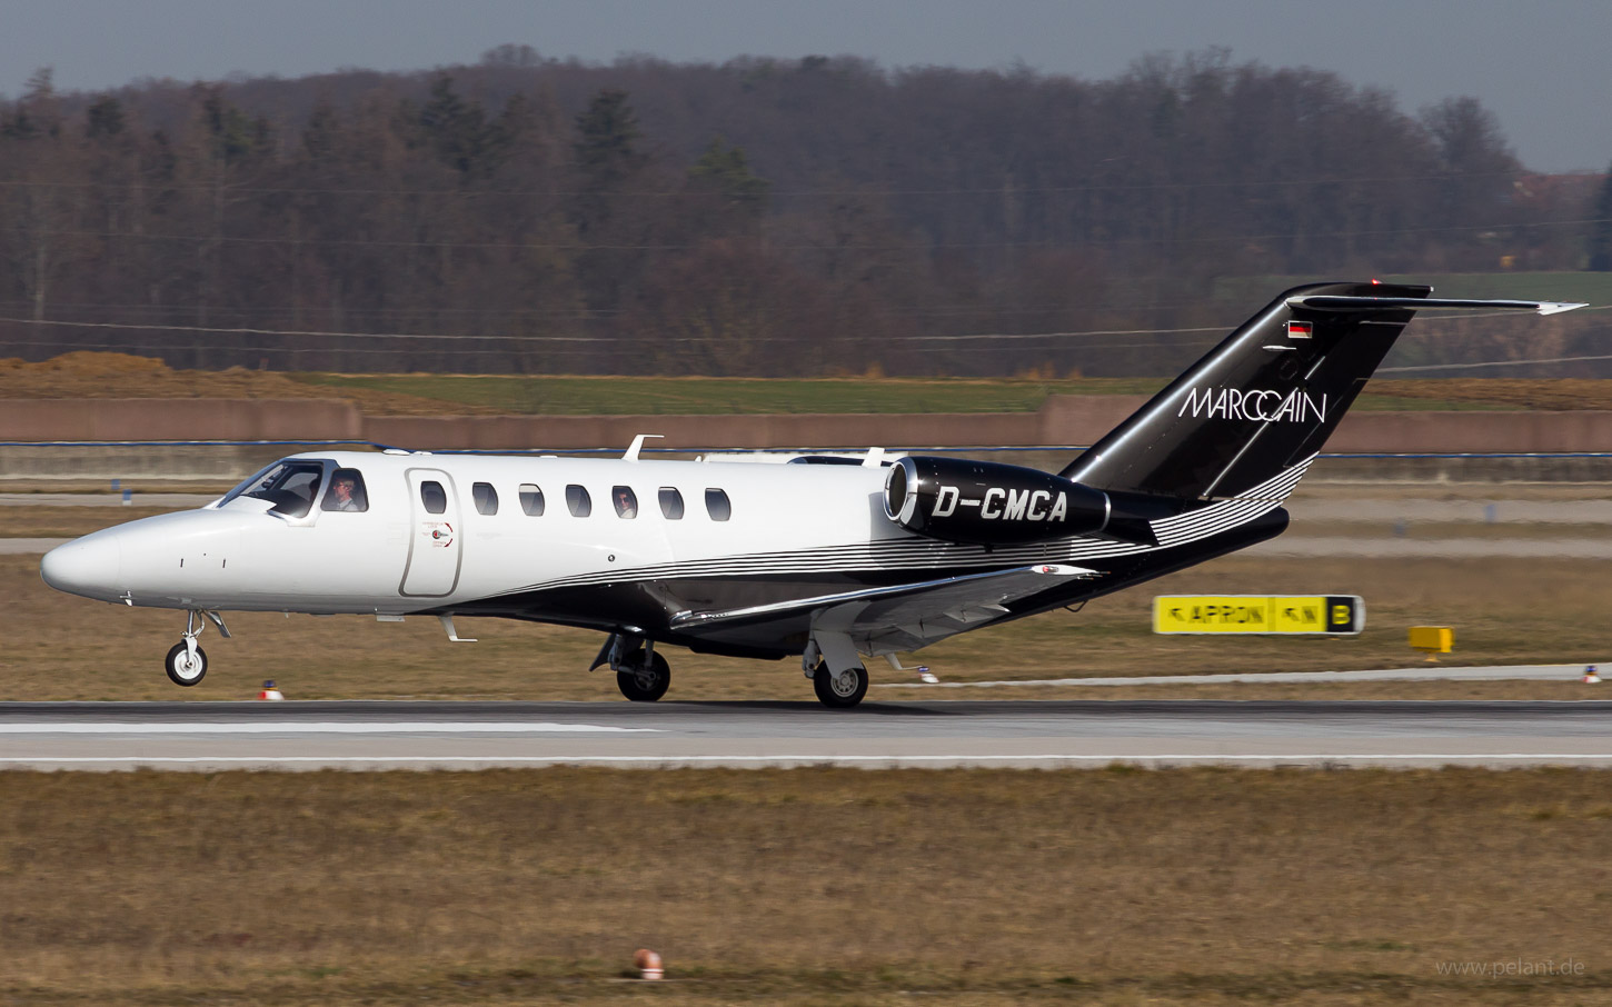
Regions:
[[1040, 469], [909, 454], [885, 477], [885, 514], [908, 532], [995, 546], [1103, 533], [1112, 504]]

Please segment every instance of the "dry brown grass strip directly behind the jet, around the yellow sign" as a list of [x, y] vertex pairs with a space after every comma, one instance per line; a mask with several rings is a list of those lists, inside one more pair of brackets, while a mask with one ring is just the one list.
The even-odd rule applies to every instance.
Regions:
[[[1156, 636], [1151, 604], [1162, 593], [1362, 595], [1367, 628], [1356, 638]], [[476, 644], [450, 644], [434, 619], [403, 625], [361, 615], [235, 614], [234, 640], [203, 636], [213, 662], [197, 688], [163, 677], [161, 657], [182, 615], [127, 609], [52, 591], [39, 557], [0, 556], [0, 609], [15, 627], [0, 699], [240, 699], [276, 678], [297, 699], [616, 699], [614, 678], [584, 669], [601, 636], [501, 620], [463, 620]], [[1219, 559], [1151, 585], [1099, 598], [1078, 614], [1051, 612], [954, 636], [916, 656], [948, 682], [1091, 675], [1304, 672], [1410, 667], [1410, 625], [1454, 625], [1451, 665], [1604, 662], [1612, 578], [1594, 561], [1527, 559]], [[740, 661], [667, 651], [671, 699], [804, 699], [793, 661]], [[911, 664], [911, 659], [909, 659]], [[882, 661], [874, 682], [911, 682]], [[1169, 686], [1174, 688], [1174, 686]], [[1291, 698], [1294, 686], [1212, 686], [1217, 698]], [[1573, 683], [1325, 686], [1328, 698], [1594, 696]], [[1096, 693], [1096, 690], [1085, 690]], [[1120, 698], [1120, 693], [1101, 693]], [[1148, 688], [1146, 696], [1174, 693]], [[912, 698], [875, 691], [875, 698]], [[946, 693], [946, 698], [985, 693]], [[1009, 693], [991, 693], [1008, 698]], [[1017, 696], [1017, 693], [1012, 693]]]

